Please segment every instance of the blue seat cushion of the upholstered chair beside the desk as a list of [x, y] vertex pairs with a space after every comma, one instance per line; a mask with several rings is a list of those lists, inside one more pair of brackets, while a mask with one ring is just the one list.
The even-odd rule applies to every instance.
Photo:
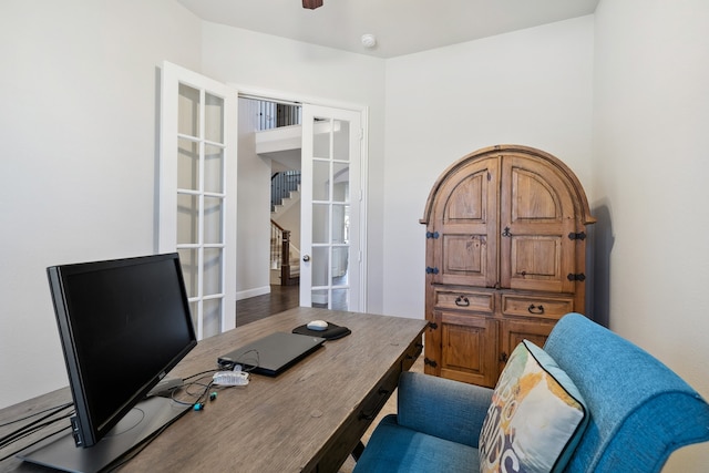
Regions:
[[477, 449], [401, 426], [393, 414], [377, 425], [354, 473], [470, 473]]

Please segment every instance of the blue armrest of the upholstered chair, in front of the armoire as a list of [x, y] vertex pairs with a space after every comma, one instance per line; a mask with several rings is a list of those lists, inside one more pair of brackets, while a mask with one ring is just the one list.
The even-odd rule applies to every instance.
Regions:
[[405, 371], [399, 380], [397, 420], [408, 429], [477, 448], [492, 392], [490, 388]]

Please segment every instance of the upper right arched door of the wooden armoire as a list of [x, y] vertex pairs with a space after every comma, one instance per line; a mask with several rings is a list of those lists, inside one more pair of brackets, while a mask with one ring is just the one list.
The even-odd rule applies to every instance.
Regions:
[[573, 292], [576, 232], [569, 188], [549, 166], [521, 156], [502, 165], [501, 287]]

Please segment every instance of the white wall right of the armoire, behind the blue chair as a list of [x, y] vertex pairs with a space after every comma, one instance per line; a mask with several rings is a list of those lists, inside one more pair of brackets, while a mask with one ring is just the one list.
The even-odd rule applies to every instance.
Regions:
[[[709, 3], [602, 0], [594, 207], [609, 254], [610, 328], [709, 398]], [[706, 472], [709, 444], [667, 471]]]

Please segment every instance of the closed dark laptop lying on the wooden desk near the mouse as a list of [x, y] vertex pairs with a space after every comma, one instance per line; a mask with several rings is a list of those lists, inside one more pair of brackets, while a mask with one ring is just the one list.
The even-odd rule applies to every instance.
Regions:
[[321, 337], [274, 332], [220, 356], [217, 362], [227, 369], [240, 364], [244, 371], [275, 377], [322, 347], [325, 341]]

